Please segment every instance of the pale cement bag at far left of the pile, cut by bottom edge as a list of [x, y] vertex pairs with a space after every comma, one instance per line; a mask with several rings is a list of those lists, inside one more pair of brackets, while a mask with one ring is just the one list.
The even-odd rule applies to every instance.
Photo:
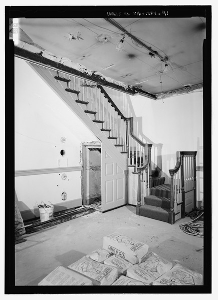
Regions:
[[63, 266], [58, 266], [38, 285], [93, 285], [92, 281], [81, 274]]

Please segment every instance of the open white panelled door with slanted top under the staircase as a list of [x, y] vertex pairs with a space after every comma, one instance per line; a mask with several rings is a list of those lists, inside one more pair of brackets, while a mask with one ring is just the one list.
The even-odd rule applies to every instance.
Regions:
[[[116, 150], [116, 149], [115, 149]], [[102, 143], [102, 212], [125, 205], [125, 163]]]

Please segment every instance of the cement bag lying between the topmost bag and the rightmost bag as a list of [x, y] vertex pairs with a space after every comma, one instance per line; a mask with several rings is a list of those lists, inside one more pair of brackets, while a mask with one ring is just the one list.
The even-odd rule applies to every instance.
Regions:
[[155, 279], [170, 270], [171, 267], [172, 263], [170, 261], [161, 258], [154, 252], [150, 252], [144, 262], [130, 267], [126, 275], [150, 285]]

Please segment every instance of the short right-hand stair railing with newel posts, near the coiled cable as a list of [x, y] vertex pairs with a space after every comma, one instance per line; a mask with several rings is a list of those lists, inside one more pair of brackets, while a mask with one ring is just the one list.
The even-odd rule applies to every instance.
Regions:
[[175, 205], [181, 205], [181, 218], [185, 217], [185, 193], [194, 190], [196, 206], [196, 151], [177, 151], [176, 165], [169, 169], [170, 207], [169, 223], [175, 222]]

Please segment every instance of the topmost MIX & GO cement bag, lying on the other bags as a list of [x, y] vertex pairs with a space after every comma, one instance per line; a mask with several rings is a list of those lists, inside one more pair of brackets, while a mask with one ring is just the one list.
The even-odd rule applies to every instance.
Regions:
[[103, 248], [118, 254], [132, 264], [142, 262], [148, 251], [148, 245], [117, 232], [104, 236]]

